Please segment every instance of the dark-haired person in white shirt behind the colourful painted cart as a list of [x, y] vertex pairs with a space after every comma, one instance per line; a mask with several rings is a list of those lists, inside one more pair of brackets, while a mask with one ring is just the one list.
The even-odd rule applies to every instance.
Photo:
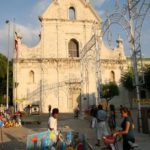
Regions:
[[54, 108], [52, 110], [52, 116], [49, 117], [48, 120], [48, 129], [50, 131], [54, 131], [56, 135], [58, 135], [58, 131], [57, 131], [57, 118], [59, 115], [59, 109], [58, 108]]

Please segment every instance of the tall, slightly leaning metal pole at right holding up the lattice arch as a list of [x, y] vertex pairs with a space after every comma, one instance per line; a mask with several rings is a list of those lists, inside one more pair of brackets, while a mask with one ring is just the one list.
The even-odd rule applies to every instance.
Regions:
[[139, 76], [138, 76], [138, 68], [137, 68], [137, 57], [136, 50], [134, 44], [134, 33], [133, 33], [133, 13], [131, 10], [131, 0], [128, 0], [128, 9], [129, 9], [129, 23], [130, 23], [130, 32], [131, 32], [131, 41], [130, 46], [132, 50], [132, 61], [133, 61], [133, 71], [135, 76], [135, 86], [136, 86], [136, 94], [138, 100], [138, 128], [139, 132], [141, 131], [141, 103], [140, 103], [140, 90], [139, 90]]

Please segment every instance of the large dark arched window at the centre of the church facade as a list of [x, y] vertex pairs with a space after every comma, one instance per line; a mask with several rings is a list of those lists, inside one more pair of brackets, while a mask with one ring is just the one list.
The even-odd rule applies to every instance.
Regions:
[[79, 57], [79, 44], [75, 39], [71, 39], [68, 45], [69, 57]]

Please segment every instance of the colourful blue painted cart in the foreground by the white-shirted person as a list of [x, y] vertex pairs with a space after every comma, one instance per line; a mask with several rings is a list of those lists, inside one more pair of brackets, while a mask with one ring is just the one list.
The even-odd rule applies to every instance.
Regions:
[[66, 129], [62, 131], [58, 134], [59, 140], [55, 131], [28, 135], [26, 150], [93, 150], [84, 134]]

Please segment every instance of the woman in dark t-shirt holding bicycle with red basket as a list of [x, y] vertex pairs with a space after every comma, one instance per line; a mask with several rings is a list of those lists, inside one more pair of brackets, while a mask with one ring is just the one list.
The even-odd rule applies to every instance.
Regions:
[[114, 131], [113, 135], [122, 135], [123, 136], [123, 150], [130, 150], [131, 146], [129, 144], [129, 141], [132, 143], [135, 142], [134, 137], [134, 131], [133, 131], [133, 121], [130, 117], [130, 111], [127, 107], [123, 107], [120, 110], [121, 117], [124, 118], [124, 120], [121, 123], [122, 130], [121, 131]]

